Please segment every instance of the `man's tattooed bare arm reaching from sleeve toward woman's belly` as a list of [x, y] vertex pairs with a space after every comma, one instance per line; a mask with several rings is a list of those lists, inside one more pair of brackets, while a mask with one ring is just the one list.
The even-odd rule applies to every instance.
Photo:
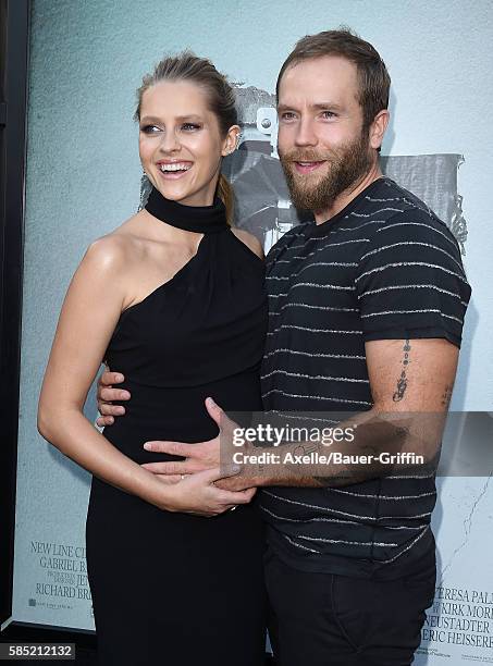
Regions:
[[[338, 423], [341, 429], [353, 430], [353, 441], [326, 446], [310, 440], [275, 449], [250, 446], [246, 453], [254, 456], [275, 451], [278, 462], [247, 464], [241, 474], [219, 484], [347, 485], [398, 473], [420, 457], [423, 469], [433, 469], [457, 369], [457, 347], [442, 338], [389, 340], [367, 343], [366, 354], [373, 407]], [[326, 462], [337, 454], [356, 456], [361, 464], [355, 464], [354, 457], [349, 464], [344, 458]], [[304, 456], [310, 462], [304, 462]]]

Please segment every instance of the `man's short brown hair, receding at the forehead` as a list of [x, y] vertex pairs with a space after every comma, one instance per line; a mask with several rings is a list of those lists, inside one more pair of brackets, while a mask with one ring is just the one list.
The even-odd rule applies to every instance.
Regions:
[[359, 83], [357, 100], [362, 109], [363, 130], [368, 130], [375, 115], [389, 107], [391, 77], [377, 49], [346, 27], [307, 35], [296, 44], [278, 76], [278, 100], [281, 78], [287, 67], [324, 55], [340, 55], [356, 65]]

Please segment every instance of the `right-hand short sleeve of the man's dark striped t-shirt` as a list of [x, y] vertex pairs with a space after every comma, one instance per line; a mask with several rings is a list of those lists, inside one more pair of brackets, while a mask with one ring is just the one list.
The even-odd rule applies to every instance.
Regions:
[[355, 278], [365, 341], [444, 337], [460, 346], [471, 289], [436, 218], [404, 211], [380, 227]]

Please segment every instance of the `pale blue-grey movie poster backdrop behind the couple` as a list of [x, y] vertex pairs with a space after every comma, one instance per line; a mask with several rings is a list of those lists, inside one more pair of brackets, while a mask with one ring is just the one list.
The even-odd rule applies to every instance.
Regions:
[[[452, 229], [473, 289], [456, 414], [444, 439], [448, 464], [437, 479], [436, 593], [416, 663], [493, 663], [493, 482], [491, 466], [474, 464], [468, 446], [493, 442], [493, 86], [488, 53], [478, 50], [493, 37], [485, 1], [36, 0], [14, 620], [94, 628], [84, 543], [90, 477], [40, 437], [36, 409], [58, 313], [85, 248], [145, 196], [132, 121], [143, 74], [164, 52], [189, 47], [234, 82], [242, 145], [224, 173], [235, 187], [237, 225], [267, 250], [298, 223], [276, 153], [276, 74], [299, 37], [341, 24], [378, 48], [393, 79], [383, 170]], [[86, 416], [97, 416], [94, 388]], [[121, 555], [115, 548], [115, 560]], [[124, 579], [114, 582], [125, 588]], [[128, 600], [128, 613], [135, 612]]]

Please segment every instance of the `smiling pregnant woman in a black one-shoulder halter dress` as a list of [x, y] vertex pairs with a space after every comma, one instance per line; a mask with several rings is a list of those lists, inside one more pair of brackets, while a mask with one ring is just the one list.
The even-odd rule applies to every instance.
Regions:
[[[233, 90], [207, 60], [167, 58], [144, 78], [136, 119], [153, 188], [72, 280], [38, 427], [94, 474], [86, 539], [100, 664], [255, 666], [264, 648], [255, 491], [217, 489], [219, 470], [170, 484], [141, 467], [156, 461], [148, 440], [217, 434], [207, 396], [261, 409], [261, 248], [229, 226], [220, 175], [239, 132]], [[83, 406], [102, 359], [134, 399], [101, 434]]]

